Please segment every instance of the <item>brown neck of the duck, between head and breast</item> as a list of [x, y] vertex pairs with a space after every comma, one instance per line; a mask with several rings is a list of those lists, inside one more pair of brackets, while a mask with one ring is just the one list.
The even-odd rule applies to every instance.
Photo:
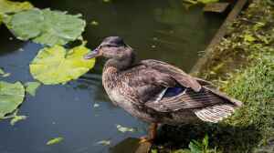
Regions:
[[124, 54], [120, 57], [110, 58], [104, 66], [104, 70], [108, 67], [114, 67], [117, 72], [128, 69], [133, 65], [135, 55], [131, 47], [125, 47]]

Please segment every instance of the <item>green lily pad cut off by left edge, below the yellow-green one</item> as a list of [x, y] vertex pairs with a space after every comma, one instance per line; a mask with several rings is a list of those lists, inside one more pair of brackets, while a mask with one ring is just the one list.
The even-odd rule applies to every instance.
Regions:
[[15, 84], [0, 81], [0, 118], [13, 112], [24, 100], [25, 88], [20, 82]]

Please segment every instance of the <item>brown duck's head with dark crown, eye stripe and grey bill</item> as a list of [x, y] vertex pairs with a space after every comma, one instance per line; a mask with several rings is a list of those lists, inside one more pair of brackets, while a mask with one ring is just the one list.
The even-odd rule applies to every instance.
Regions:
[[106, 37], [101, 43], [100, 46], [95, 48], [92, 52], [84, 56], [85, 59], [94, 58], [97, 56], [104, 56], [106, 58], [116, 58], [121, 59], [124, 56], [127, 56], [127, 50], [131, 48], [127, 46], [121, 37], [119, 36], [109, 36]]

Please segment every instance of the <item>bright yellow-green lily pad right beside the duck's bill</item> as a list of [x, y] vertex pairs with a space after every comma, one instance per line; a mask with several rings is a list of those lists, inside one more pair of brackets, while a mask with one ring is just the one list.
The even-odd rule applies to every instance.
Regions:
[[95, 64], [95, 59], [84, 59], [90, 52], [85, 46], [66, 50], [63, 46], [41, 49], [30, 64], [30, 73], [46, 85], [66, 83], [87, 73]]

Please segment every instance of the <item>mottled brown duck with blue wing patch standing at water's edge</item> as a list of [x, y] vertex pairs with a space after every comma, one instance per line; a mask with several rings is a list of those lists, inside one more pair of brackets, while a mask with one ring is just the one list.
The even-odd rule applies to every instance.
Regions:
[[132, 47], [119, 36], [104, 38], [84, 59], [99, 56], [108, 58], [102, 85], [112, 103], [150, 123], [142, 142], [153, 141], [159, 125], [198, 120], [217, 123], [242, 106], [209, 81], [190, 76], [177, 66], [155, 59], [137, 62]]

